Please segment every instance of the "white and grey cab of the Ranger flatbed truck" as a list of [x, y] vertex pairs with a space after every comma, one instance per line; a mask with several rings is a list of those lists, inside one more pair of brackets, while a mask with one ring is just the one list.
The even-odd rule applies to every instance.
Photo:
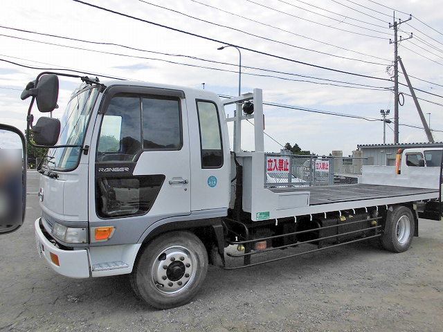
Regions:
[[[210, 91], [82, 83], [39, 168], [40, 254], [62, 275], [100, 277], [132, 273], [138, 254], [166, 231], [193, 230], [193, 241], [205, 243], [220, 230], [230, 199], [225, 122]], [[199, 263], [190, 250], [178, 252]], [[192, 278], [192, 266], [177, 277], [181, 267], [172, 268], [172, 279]], [[173, 283], [172, 293], [186, 284]]]

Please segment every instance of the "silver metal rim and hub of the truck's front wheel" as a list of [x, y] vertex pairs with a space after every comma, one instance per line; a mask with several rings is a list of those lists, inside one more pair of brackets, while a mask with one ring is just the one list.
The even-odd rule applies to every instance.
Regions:
[[152, 279], [159, 291], [176, 293], [195, 276], [195, 257], [181, 246], [167, 248], [152, 266]]

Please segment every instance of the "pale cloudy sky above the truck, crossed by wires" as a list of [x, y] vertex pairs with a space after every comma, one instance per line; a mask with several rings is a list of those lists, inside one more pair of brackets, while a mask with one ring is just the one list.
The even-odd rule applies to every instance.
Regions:
[[[280, 151], [289, 142], [319, 155], [342, 150], [347, 156], [357, 145], [381, 144], [381, 109], [390, 109], [390, 144], [395, 19], [402, 22], [399, 36], [407, 39], [399, 43], [399, 56], [413, 87], [421, 90], [416, 94], [435, 141], [443, 141], [441, 0], [84, 1], [114, 12], [73, 0], [3, 2], [0, 122], [22, 131], [30, 100], [20, 100], [20, 94], [42, 68], [235, 96], [239, 52], [217, 50], [230, 44], [242, 56], [242, 93], [259, 88], [264, 102], [285, 106], [264, 106], [265, 151]], [[54, 117], [62, 117], [79, 84], [60, 80]], [[399, 91], [399, 142], [427, 142], [423, 129], [408, 127], [423, 127], [408, 86]], [[33, 113], [41, 116], [37, 108]], [[226, 113], [233, 116], [233, 109]], [[253, 126], [245, 122], [242, 131], [242, 148], [253, 149]]]

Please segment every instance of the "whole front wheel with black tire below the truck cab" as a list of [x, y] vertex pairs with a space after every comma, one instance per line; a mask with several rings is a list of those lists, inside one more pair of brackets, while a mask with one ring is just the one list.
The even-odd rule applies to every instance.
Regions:
[[190, 232], [170, 232], [145, 246], [131, 274], [135, 293], [154, 308], [190, 302], [206, 277], [208, 252]]

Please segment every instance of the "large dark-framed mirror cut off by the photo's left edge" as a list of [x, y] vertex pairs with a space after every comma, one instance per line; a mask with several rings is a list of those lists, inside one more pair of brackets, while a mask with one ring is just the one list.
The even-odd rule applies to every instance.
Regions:
[[25, 137], [19, 129], [0, 124], [0, 234], [18, 230], [25, 211]]

